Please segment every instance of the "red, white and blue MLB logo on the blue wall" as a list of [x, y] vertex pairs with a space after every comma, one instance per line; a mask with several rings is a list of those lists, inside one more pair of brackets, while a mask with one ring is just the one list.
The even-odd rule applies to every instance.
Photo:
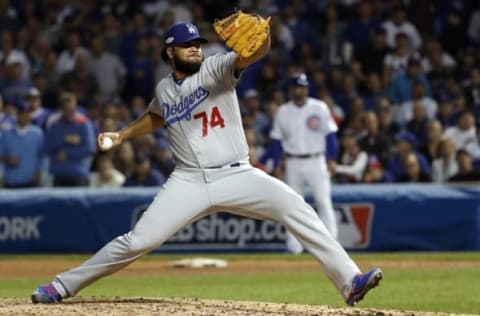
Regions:
[[363, 249], [370, 245], [374, 205], [371, 203], [336, 204], [338, 241], [345, 248]]

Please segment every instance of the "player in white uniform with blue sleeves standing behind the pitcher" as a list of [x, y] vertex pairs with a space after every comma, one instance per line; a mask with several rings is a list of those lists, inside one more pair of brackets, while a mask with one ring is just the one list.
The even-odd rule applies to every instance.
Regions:
[[[328, 106], [308, 96], [309, 82], [304, 73], [288, 82], [290, 101], [281, 105], [270, 132], [273, 168], [285, 157], [285, 181], [304, 196], [309, 185], [320, 219], [333, 238], [337, 238], [337, 221], [331, 199], [327, 160], [334, 164], [338, 152], [337, 124]], [[303, 252], [302, 244], [287, 231], [286, 247], [290, 253]]]

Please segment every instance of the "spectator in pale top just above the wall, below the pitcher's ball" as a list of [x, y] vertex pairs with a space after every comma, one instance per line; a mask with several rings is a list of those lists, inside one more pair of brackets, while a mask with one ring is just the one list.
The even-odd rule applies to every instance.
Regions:
[[95, 169], [90, 174], [92, 188], [119, 188], [125, 183], [125, 176], [114, 168], [112, 159], [107, 154], [97, 156]]

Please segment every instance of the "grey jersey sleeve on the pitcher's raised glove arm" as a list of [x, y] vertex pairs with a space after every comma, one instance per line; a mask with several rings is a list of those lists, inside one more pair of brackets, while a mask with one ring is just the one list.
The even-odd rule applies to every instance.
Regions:
[[238, 78], [235, 77], [236, 59], [237, 54], [235, 52], [216, 54], [205, 59], [205, 65], [208, 73], [217, 82], [221, 82], [227, 87], [234, 87], [238, 81]]

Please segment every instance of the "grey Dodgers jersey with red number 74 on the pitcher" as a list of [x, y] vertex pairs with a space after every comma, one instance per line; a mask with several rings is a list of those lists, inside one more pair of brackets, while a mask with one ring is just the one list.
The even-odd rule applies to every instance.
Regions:
[[208, 57], [183, 82], [169, 75], [157, 84], [148, 111], [165, 119], [178, 166], [208, 168], [248, 159], [235, 57], [233, 52]]

